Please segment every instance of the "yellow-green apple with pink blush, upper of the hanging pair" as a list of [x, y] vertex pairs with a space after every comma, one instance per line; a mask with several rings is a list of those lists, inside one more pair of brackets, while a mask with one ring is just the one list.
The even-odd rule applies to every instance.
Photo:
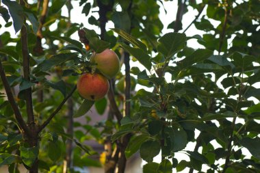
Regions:
[[90, 62], [96, 64], [96, 68], [107, 78], [112, 79], [120, 71], [120, 60], [118, 55], [110, 49], [101, 53], [94, 53]]

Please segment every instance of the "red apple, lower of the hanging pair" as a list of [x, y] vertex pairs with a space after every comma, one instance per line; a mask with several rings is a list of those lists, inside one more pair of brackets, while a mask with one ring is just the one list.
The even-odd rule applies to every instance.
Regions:
[[99, 73], [84, 73], [77, 81], [79, 94], [90, 101], [98, 101], [107, 94], [109, 82]]

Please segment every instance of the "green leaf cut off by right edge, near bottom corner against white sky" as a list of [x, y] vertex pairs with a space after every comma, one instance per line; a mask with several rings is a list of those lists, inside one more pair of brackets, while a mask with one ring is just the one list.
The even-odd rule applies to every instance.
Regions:
[[260, 137], [255, 137], [254, 139], [249, 137], [244, 137], [239, 141], [239, 143], [245, 148], [247, 148], [254, 157], [260, 159], [260, 148], [259, 148]]

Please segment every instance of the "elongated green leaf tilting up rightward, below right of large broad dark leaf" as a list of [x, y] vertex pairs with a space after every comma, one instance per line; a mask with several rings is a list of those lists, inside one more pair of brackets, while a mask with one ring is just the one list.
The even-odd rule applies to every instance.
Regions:
[[197, 49], [196, 51], [194, 51], [192, 53], [192, 55], [187, 56], [185, 59], [178, 62], [177, 66], [180, 69], [187, 68], [197, 62], [202, 62], [203, 60], [209, 58], [212, 54], [213, 54], [213, 51], [210, 51], [208, 49]]

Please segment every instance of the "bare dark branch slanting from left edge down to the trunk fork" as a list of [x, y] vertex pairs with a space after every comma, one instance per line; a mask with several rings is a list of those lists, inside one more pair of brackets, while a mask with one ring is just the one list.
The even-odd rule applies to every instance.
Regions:
[[10, 88], [10, 85], [8, 83], [8, 79], [5, 76], [5, 71], [3, 69], [3, 64], [0, 59], [0, 76], [3, 82], [3, 87], [5, 88], [6, 95], [8, 96], [8, 101], [14, 111], [14, 116], [18, 122], [19, 127], [25, 131], [25, 135], [31, 136], [31, 132], [29, 131], [29, 128], [27, 127], [27, 124], [23, 120], [23, 116], [21, 115], [20, 110], [18, 109], [18, 106], [14, 100], [14, 96], [12, 94], [12, 90]]

